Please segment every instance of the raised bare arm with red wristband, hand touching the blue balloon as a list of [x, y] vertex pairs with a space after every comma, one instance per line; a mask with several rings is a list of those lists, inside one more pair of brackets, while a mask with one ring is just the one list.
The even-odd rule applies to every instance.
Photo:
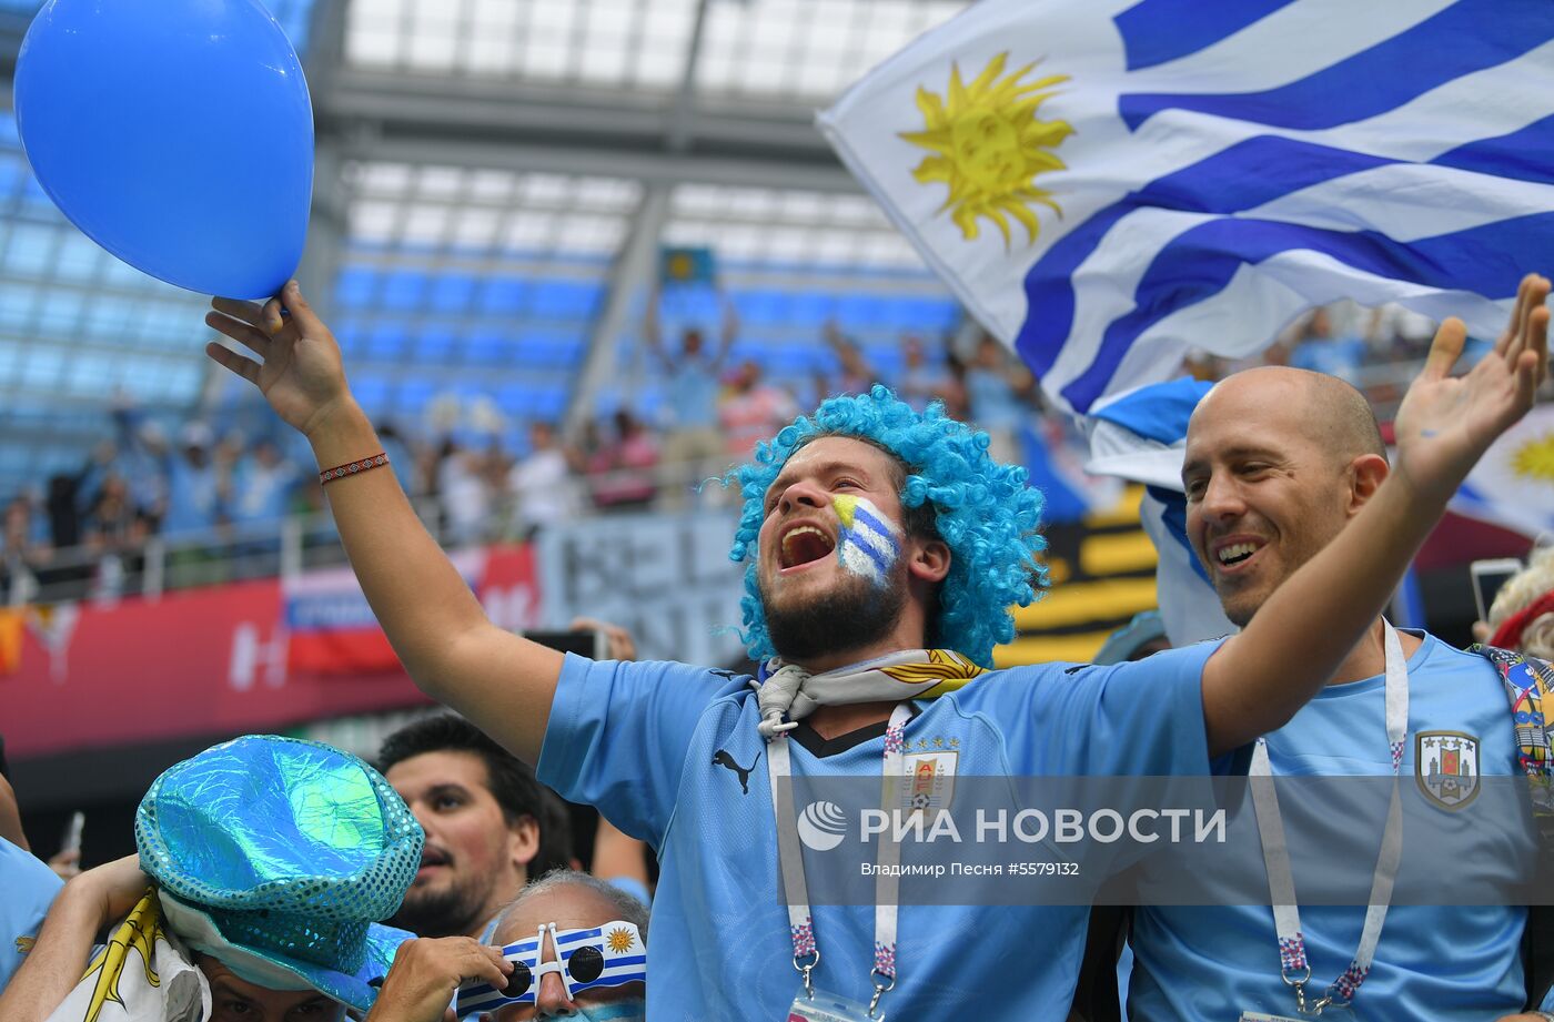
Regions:
[[[382, 450], [347, 385], [334, 335], [295, 281], [263, 308], [227, 298], [213, 304], [205, 322], [258, 359], [216, 343], [205, 353], [260, 388], [275, 413], [312, 444], [320, 471]], [[325, 494], [362, 592], [415, 683], [535, 763], [561, 654], [486, 618], [421, 525], [393, 466], [334, 480]]]

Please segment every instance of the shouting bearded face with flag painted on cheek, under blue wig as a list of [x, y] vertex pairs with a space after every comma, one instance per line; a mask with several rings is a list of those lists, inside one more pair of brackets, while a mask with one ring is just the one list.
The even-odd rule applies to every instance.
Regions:
[[[912, 581], [943, 576], [937, 565], [932, 578], [923, 575], [925, 547], [945, 553], [943, 572], [948, 551], [939, 541], [904, 534], [901, 481], [900, 463], [873, 444], [822, 436], [796, 450], [768, 488], [757, 578], [772, 646], [783, 659], [845, 663], [848, 652], [881, 643], [923, 645], [928, 600]], [[861, 551], [867, 537], [856, 531], [859, 511], [880, 522], [876, 533], [894, 530], [876, 547], [878, 558]], [[844, 516], [853, 517], [853, 528]]]

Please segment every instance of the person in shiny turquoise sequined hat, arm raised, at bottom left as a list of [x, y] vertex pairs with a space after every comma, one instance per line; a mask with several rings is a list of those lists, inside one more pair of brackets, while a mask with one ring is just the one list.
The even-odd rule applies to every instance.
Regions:
[[371, 1008], [412, 938], [376, 919], [415, 876], [421, 828], [376, 770], [329, 746], [249, 736], [168, 769], [135, 845], [65, 885], [0, 1017], [95, 1022], [112, 994], [132, 1022], [339, 1019]]

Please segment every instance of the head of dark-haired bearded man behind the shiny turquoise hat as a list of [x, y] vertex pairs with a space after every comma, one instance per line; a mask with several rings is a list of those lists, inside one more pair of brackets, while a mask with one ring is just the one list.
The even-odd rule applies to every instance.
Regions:
[[444, 713], [399, 728], [384, 739], [378, 767], [426, 831], [396, 926], [421, 937], [483, 937], [531, 876], [570, 864], [561, 800], [463, 718]]

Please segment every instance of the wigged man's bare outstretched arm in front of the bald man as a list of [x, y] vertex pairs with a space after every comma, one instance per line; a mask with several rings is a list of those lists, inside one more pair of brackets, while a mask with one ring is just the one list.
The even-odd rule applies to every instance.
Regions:
[[1385, 610], [1458, 485], [1532, 407], [1548, 373], [1548, 280], [1523, 280], [1510, 326], [1458, 379], [1450, 373], [1467, 331], [1455, 318], [1441, 325], [1397, 413], [1391, 475], [1204, 666], [1203, 716], [1212, 755], [1284, 727]]

